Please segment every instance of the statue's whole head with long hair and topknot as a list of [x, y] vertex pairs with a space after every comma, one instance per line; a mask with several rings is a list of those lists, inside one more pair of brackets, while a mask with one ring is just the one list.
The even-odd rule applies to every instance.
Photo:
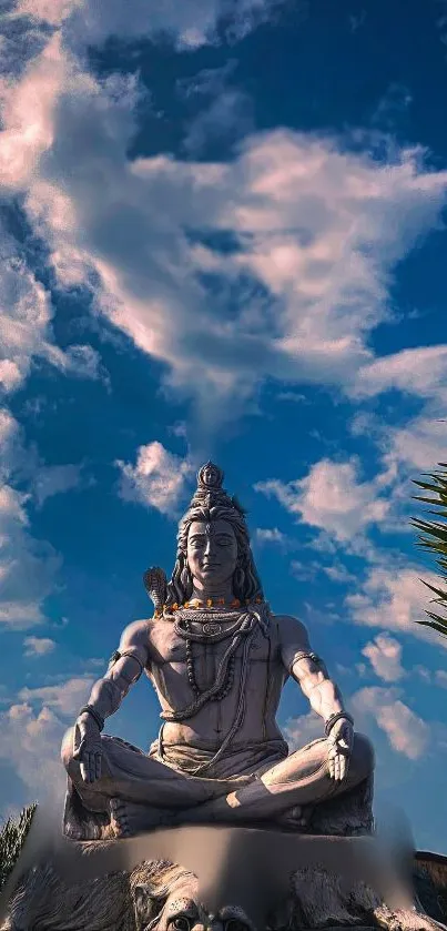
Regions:
[[245, 512], [222, 488], [223, 472], [206, 463], [197, 475], [197, 489], [179, 524], [174, 571], [167, 605], [191, 598], [194, 580], [213, 587], [232, 584], [241, 603], [262, 598], [261, 583], [250, 546]]

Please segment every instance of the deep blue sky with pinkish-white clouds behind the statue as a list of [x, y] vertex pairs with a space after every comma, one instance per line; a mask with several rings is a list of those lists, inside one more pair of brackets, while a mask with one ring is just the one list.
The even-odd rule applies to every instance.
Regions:
[[[171, 571], [214, 458], [272, 607], [446, 850], [446, 652], [412, 478], [446, 459], [447, 6], [16, 0], [1, 39], [0, 809]], [[288, 682], [291, 746], [319, 736]], [[140, 681], [109, 730], [158, 730]]]

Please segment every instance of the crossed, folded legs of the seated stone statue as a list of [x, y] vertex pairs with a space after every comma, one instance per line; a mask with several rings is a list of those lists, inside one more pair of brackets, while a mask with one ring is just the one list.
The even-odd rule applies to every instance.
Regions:
[[246, 765], [232, 778], [191, 776], [167, 766], [155, 756], [115, 738], [102, 736], [103, 775], [85, 783], [73, 759], [72, 731], [68, 731], [62, 758], [77, 792], [90, 811], [109, 811], [116, 836], [132, 836], [162, 824], [299, 823], [302, 807], [317, 806], [351, 791], [372, 771], [372, 747], [355, 735], [347, 776], [342, 782], [329, 777], [327, 741], [315, 740], [280, 762], [257, 769]]

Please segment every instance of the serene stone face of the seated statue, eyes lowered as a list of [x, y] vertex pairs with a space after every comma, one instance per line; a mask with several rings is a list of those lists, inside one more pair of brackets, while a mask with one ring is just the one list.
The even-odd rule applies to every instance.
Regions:
[[195, 520], [187, 535], [187, 565], [194, 579], [224, 585], [233, 578], [237, 563], [236, 536], [227, 520], [205, 524]]

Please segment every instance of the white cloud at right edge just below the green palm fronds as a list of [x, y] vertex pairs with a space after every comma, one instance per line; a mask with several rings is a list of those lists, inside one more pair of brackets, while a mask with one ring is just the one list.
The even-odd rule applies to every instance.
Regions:
[[430, 585], [439, 584], [437, 576], [423, 573], [420, 566], [372, 566], [359, 590], [345, 598], [351, 618], [355, 624], [413, 634], [447, 648], [447, 638], [416, 623], [426, 619], [424, 611], [431, 597], [420, 576]]

